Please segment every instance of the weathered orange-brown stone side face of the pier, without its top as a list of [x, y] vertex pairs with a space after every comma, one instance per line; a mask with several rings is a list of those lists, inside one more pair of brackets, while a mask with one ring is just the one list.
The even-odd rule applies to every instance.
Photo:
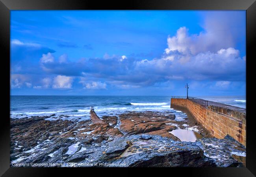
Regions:
[[188, 99], [172, 98], [171, 107], [188, 111], [198, 124], [207, 129], [212, 136], [224, 138], [227, 134], [246, 146], [246, 119], [242, 116], [231, 117], [223, 113], [202, 107]]

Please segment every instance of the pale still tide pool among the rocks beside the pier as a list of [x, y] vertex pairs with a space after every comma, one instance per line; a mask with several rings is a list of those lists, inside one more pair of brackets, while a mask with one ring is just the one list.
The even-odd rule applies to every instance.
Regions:
[[202, 135], [199, 133], [188, 129], [176, 129], [169, 131], [169, 133], [177, 136], [181, 141], [195, 142], [197, 138], [202, 138]]

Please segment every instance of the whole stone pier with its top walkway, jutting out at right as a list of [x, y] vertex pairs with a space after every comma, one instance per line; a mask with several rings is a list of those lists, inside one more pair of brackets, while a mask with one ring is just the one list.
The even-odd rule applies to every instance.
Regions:
[[190, 99], [171, 98], [171, 108], [192, 116], [216, 138], [232, 136], [246, 146], [246, 109], [208, 101], [204, 107]]

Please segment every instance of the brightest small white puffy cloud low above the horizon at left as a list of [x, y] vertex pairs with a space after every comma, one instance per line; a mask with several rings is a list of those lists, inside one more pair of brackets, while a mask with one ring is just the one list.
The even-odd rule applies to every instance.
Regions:
[[72, 88], [73, 78], [69, 76], [58, 75], [54, 77], [52, 88], [54, 89], [70, 89]]

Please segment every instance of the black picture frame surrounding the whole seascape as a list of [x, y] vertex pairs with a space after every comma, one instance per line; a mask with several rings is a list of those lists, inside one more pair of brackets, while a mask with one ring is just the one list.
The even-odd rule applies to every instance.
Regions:
[[[9, 163], [9, 100], [10, 100], [10, 10], [246, 10], [247, 33], [246, 33], [246, 74], [247, 74], [247, 167], [246, 168], [10, 168]], [[142, 173], [156, 172], [160, 175], [163, 170], [173, 175], [189, 176], [254, 176], [256, 175], [256, 153], [254, 136], [254, 114], [253, 114], [253, 75], [252, 61], [255, 55], [256, 39], [256, 2], [255, 0], [129, 0], [129, 1], [97, 1], [97, 0], [0, 0], [0, 46], [2, 48], [2, 117], [0, 128], [0, 175], [1, 176], [46, 176], [53, 172], [60, 176], [60, 173], [74, 171], [89, 175], [93, 171], [97, 176], [115, 173], [123, 174], [121, 170], [140, 170]], [[252, 81], [250, 80], [252, 79]], [[111, 170], [111, 172], [109, 171]], [[131, 174], [134, 174], [131, 173]], [[145, 174], [144, 174], [145, 175]]]

